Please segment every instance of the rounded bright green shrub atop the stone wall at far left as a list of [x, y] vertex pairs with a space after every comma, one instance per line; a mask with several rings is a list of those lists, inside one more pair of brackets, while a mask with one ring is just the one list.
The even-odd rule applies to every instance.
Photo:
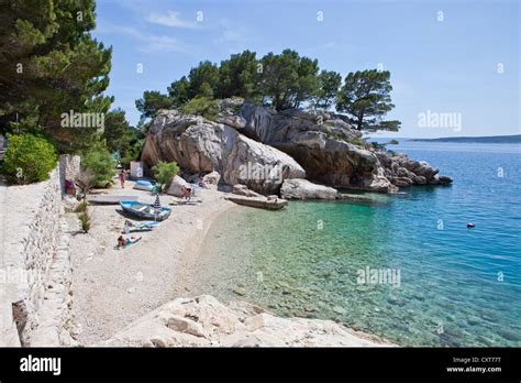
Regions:
[[30, 184], [48, 178], [56, 166], [56, 151], [47, 140], [24, 133], [8, 134], [9, 146], [3, 158], [3, 172]]

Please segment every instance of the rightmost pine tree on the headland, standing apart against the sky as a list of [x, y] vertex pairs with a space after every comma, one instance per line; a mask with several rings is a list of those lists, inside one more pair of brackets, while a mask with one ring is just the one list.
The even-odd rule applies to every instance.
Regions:
[[350, 73], [339, 94], [336, 110], [347, 113], [357, 130], [397, 131], [399, 121], [383, 121], [395, 106], [389, 92], [392, 86], [388, 70], [363, 70]]

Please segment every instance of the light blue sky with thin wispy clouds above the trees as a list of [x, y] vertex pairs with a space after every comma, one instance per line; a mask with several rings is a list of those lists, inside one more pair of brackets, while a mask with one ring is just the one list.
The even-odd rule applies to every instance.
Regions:
[[250, 50], [296, 50], [321, 69], [390, 70], [381, 136], [520, 134], [518, 0], [98, 0], [93, 36], [112, 46], [107, 95], [135, 124], [135, 100]]

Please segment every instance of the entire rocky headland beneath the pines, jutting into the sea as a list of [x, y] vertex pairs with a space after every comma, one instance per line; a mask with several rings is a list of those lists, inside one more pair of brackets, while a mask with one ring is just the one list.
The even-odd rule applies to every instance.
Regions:
[[[159, 111], [142, 160], [148, 166], [176, 161], [191, 174], [217, 171], [222, 184], [243, 184], [265, 195], [279, 194], [284, 180], [291, 178], [381, 193], [452, 182], [426, 162], [364, 141], [343, 114], [276, 111], [240, 98], [214, 101], [214, 108], [207, 117]], [[268, 171], [245, 172], [252, 168]]]

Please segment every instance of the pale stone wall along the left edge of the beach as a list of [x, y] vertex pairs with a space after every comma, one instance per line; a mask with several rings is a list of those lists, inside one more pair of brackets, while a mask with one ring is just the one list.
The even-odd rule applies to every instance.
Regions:
[[43, 183], [2, 188], [2, 231], [9, 236], [2, 238], [0, 260], [0, 346], [75, 344], [70, 234], [59, 169], [58, 165]]

